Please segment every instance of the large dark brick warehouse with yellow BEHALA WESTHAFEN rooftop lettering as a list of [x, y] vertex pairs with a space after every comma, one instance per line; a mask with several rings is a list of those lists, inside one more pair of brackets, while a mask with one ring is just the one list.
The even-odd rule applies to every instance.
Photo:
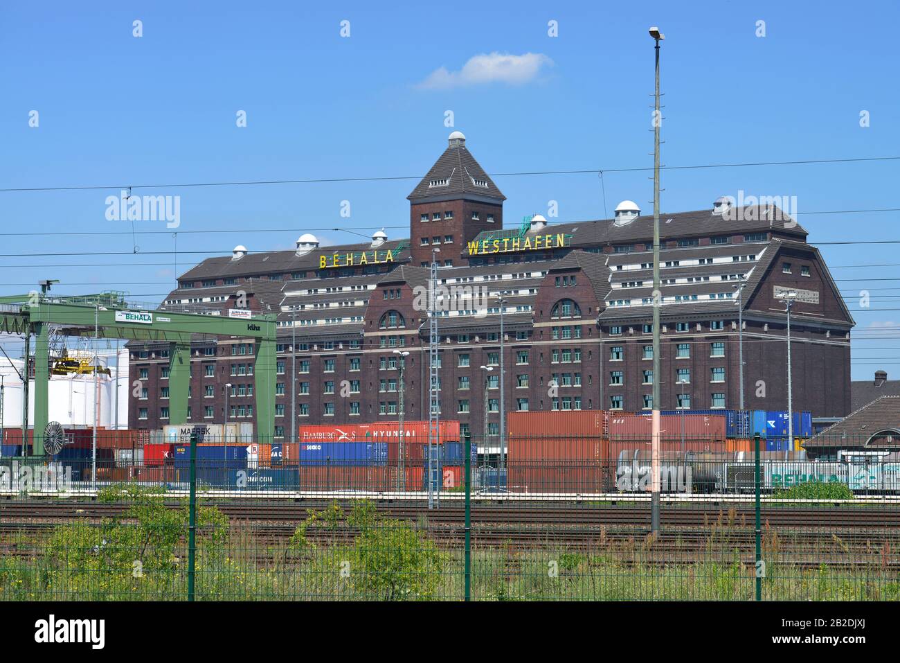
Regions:
[[[277, 313], [276, 437], [291, 434], [292, 409], [298, 425], [396, 421], [393, 350], [409, 352], [404, 416], [427, 419], [422, 294], [435, 257], [441, 417], [480, 439], [485, 407], [489, 435], [499, 431], [498, 295], [507, 412], [650, 409], [654, 379], [661, 409], [737, 408], [739, 305], [745, 406], [779, 410], [787, 344], [777, 295], [790, 289], [794, 408], [850, 412], [853, 320], [819, 251], [777, 207], [712, 198], [706, 209], [661, 216], [660, 376], [652, 370], [653, 217], [625, 201], [612, 220], [538, 215], [504, 229], [505, 196], [459, 132], [409, 196], [409, 239], [376, 232], [371, 242], [320, 247], [303, 234], [296, 250], [237, 247], [185, 272], [161, 308]], [[189, 422], [224, 422], [227, 384], [229, 422], [255, 421], [254, 351], [247, 339], [193, 339]], [[168, 362], [163, 344], [130, 344], [130, 379], [141, 385], [130, 427], [168, 422]]]

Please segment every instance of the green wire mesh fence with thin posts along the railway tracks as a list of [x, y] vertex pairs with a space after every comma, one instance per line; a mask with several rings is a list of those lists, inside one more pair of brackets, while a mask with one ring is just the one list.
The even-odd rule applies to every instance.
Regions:
[[647, 440], [509, 440], [503, 468], [496, 439], [448, 445], [432, 449], [430, 483], [420, 441], [346, 458], [297, 458], [284, 440], [166, 456], [110, 454], [101, 436], [95, 456], [0, 458], [0, 598], [900, 598], [887, 447], [679, 440], [662, 450], [653, 531]]

